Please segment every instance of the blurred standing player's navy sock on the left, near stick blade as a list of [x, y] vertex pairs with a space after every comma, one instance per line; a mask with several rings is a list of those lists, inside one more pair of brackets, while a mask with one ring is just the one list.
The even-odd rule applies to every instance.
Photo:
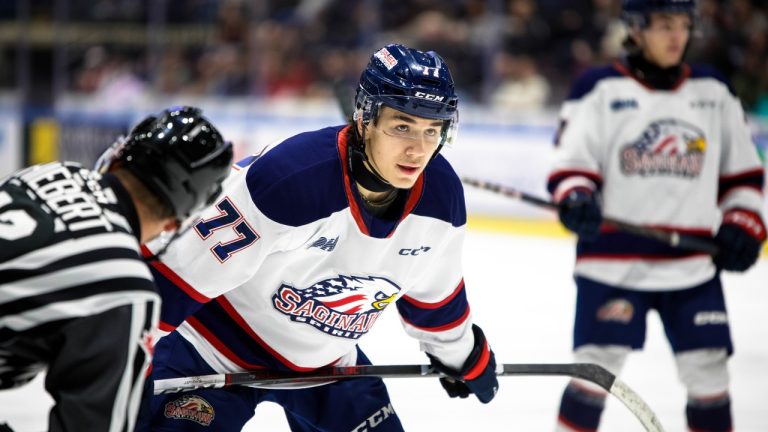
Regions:
[[605, 394], [568, 384], [560, 400], [558, 422], [576, 431], [596, 431], [605, 408]]

